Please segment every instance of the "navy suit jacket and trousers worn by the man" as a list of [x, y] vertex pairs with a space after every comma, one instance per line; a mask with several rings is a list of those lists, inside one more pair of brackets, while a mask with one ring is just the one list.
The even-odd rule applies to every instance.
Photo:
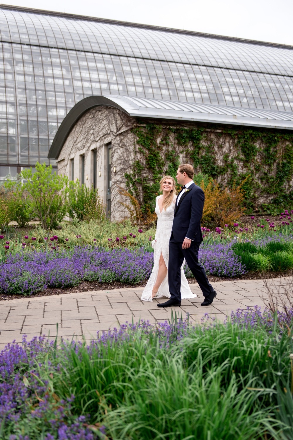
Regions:
[[[175, 204], [172, 233], [169, 242], [168, 281], [171, 299], [181, 302], [180, 268], [185, 258], [188, 267], [198, 282], [204, 296], [214, 292], [205, 269], [198, 263], [198, 249], [203, 241], [201, 234], [201, 217], [205, 194], [201, 187], [192, 183], [184, 191], [177, 205]], [[180, 193], [179, 193], [180, 194]], [[179, 195], [178, 194], [178, 195]], [[188, 249], [182, 249], [184, 238], [193, 240]]]

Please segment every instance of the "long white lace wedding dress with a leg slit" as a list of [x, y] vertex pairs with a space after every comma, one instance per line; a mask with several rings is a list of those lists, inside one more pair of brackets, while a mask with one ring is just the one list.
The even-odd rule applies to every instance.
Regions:
[[[173, 218], [174, 218], [174, 208], [176, 198], [174, 198], [173, 203], [168, 206], [166, 210], [162, 209], [160, 212], [160, 208], [158, 205], [158, 199], [162, 196], [157, 196], [156, 198], [156, 208], [155, 213], [157, 214], [157, 231], [155, 235], [154, 243], [154, 267], [152, 273], [150, 274], [150, 278], [147, 282], [147, 286], [143, 290], [143, 294], [141, 299], [143, 301], [153, 301], [152, 299], [152, 290], [154, 283], [157, 279], [157, 273], [159, 270], [159, 260], [161, 254], [163, 255], [166, 267], [168, 269], [168, 261], [169, 261], [169, 240], [172, 232]], [[186, 276], [184, 275], [183, 266], [185, 264], [185, 260], [181, 266], [181, 298], [195, 298], [196, 295], [191, 292]], [[156, 298], [167, 297], [170, 298], [169, 286], [168, 286], [168, 271], [165, 276], [159, 290], [157, 291]]]

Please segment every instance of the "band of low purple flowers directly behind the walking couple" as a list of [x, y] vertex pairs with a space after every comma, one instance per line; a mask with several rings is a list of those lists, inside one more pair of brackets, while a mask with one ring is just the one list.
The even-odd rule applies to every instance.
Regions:
[[[207, 274], [235, 276], [245, 273], [231, 245], [201, 247], [199, 260]], [[32, 294], [47, 287], [76, 286], [81, 281], [136, 284], [149, 278], [153, 253], [140, 249], [100, 249], [76, 246], [72, 250], [20, 252], [0, 263], [0, 293]], [[185, 268], [187, 276], [192, 276]]]

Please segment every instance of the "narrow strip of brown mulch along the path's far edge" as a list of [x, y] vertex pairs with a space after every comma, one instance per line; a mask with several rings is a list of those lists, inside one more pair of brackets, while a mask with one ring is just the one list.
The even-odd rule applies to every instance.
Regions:
[[[249, 272], [247, 274], [238, 276], [238, 277], [218, 277], [218, 276], [208, 276], [209, 281], [211, 283], [213, 282], [219, 282], [219, 281], [239, 281], [239, 280], [256, 280], [256, 279], [265, 279], [265, 278], [280, 278], [280, 277], [288, 277], [293, 276], [293, 270], [290, 269], [285, 272]], [[188, 278], [189, 284], [196, 284], [197, 281], [195, 278]], [[77, 293], [77, 292], [91, 292], [93, 290], [112, 290], [112, 289], [129, 289], [133, 287], [137, 288], [143, 288], [147, 284], [147, 281], [141, 282], [139, 284], [125, 284], [122, 282], [89, 282], [89, 281], [82, 281], [81, 284], [79, 284], [76, 287], [69, 287], [66, 289], [45, 289], [38, 293], [33, 293], [32, 295], [7, 295], [5, 293], [0, 294], [0, 301], [4, 300], [14, 300], [14, 299], [24, 299], [24, 298], [36, 298], [36, 297], [47, 297], [49, 295], [64, 295], [66, 293]]]

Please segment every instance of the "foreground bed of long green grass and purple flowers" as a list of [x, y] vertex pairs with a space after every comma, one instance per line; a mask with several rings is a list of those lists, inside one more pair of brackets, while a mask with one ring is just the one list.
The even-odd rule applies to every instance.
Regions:
[[42, 337], [8, 345], [0, 438], [289, 440], [290, 315], [256, 308], [224, 324], [124, 325], [89, 346], [58, 349]]

